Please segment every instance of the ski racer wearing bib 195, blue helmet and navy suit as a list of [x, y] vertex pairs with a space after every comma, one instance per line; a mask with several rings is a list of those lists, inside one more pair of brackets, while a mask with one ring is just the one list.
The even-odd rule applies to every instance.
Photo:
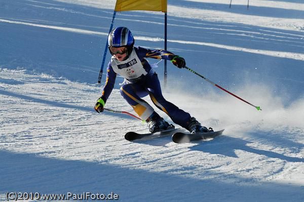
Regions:
[[178, 68], [185, 67], [185, 60], [166, 50], [149, 50], [133, 47], [134, 38], [127, 27], [117, 27], [108, 35], [108, 49], [112, 57], [107, 66], [106, 82], [101, 97], [97, 100], [95, 110], [100, 113], [108, 99], [117, 74], [125, 78], [120, 92], [124, 99], [133, 107], [138, 116], [148, 123], [151, 133], [174, 128], [169, 125], [146, 101], [141, 99], [150, 96], [153, 103], [168, 114], [172, 121], [191, 133], [208, 132], [206, 127], [195, 117], [165, 100], [160, 82], [154, 69], [145, 58], [170, 60]]

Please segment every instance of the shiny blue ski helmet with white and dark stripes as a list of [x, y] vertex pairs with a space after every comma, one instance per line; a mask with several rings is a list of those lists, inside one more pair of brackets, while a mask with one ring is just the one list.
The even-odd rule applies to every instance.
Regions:
[[[113, 29], [108, 36], [108, 48], [127, 47], [128, 55], [131, 54], [134, 45], [134, 37], [127, 27], [117, 27]], [[110, 51], [111, 55], [113, 53]]]

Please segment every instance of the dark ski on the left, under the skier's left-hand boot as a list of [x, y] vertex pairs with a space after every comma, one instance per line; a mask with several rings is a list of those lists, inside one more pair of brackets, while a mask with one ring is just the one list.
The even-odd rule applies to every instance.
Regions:
[[172, 135], [177, 132], [183, 131], [182, 128], [177, 128], [177, 129], [169, 129], [165, 131], [159, 131], [155, 133], [145, 133], [145, 134], [140, 134], [136, 132], [128, 132], [125, 135], [125, 139], [128, 141], [139, 141], [139, 140], [149, 140], [153, 138], [158, 138], [158, 137], [165, 137]]

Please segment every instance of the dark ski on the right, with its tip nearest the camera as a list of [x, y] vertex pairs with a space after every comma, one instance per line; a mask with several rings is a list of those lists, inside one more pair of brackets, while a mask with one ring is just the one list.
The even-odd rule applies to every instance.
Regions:
[[224, 130], [197, 134], [177, 132], [172, 135], [172, 141], [175, 143], [185, 143], [191, 141], [206, 140], [221, 135], [223, 131]]

